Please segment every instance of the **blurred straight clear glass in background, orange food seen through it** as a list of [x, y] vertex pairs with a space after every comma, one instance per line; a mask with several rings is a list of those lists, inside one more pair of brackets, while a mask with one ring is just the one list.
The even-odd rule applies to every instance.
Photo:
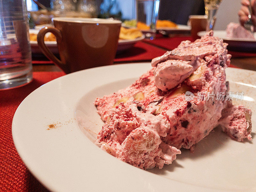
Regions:
[[137, 27], [151, 40], [156, 36], [159, 5], [160, 0], [136, 0]]

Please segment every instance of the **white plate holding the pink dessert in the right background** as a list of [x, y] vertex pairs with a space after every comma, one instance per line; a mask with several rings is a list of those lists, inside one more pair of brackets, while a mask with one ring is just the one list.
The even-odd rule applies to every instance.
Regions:
[[[198, 36], [204, 36], [205, 31], [197, 33]], [[256, 52], [256, 33], [253, 39], [229, 38], [226, 37], [226, 31], [213, 31], [213, 36], [220, 37], [225, 43], [228, 43], [228, 50], [238, 52]]]

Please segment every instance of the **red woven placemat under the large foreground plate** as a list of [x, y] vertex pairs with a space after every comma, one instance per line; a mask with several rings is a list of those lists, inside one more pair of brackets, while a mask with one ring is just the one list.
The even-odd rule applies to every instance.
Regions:
[[0, 91], [0, 191], [48, 192], [21, 161], [12, 140], [12, 118], [21, 101], [41, 85], [63, 76], [63, 72], [34, 72], [25, 86]]

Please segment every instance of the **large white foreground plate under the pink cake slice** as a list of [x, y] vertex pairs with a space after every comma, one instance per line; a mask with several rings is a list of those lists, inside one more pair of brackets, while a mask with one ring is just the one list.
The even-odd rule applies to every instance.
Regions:
[[231, 91], [244, 92], [244, 100], [237, 103], [252, 109], [252, 142], [236, 142], [217, 128], [196, 145], [195, 153], [182, 149], [172, 164], [148, 171], [93, 144], [103, 125], [93, 105], [95, 98], [132, 84], [149, 68], [150, 63], [91, 68], [57, 78], [29, 94], [15, 112], [12, 136], [31, 173], [58, 192], [255, 192], [254, 71], [227, 69]]

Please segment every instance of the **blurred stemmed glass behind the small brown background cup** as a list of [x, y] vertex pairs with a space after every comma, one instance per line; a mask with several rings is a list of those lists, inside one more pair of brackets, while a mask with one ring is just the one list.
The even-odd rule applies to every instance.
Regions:
[[207, 15], [208, 19], [206, 31], [212, 30], [215, 15], [220, 7], [221, 1], [222, 0], [204, 0], [205, 15]]

